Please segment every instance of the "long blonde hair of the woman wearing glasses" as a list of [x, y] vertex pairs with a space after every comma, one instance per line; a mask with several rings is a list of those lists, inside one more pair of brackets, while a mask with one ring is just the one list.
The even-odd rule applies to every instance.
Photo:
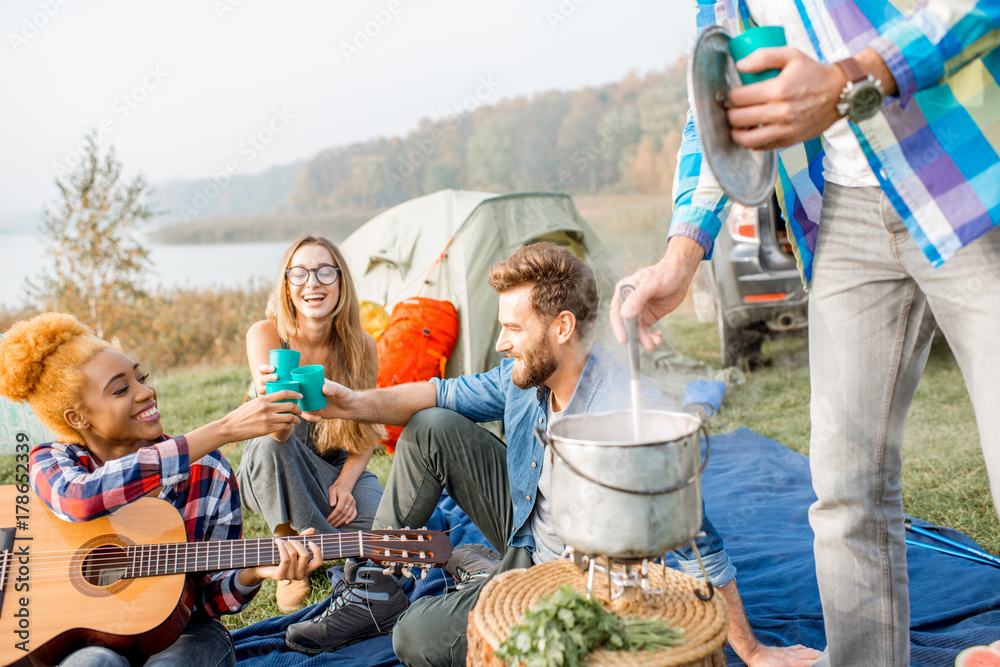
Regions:
[[[288, 296], [288, 280], [285, 269], [291, 266], [292, 256], [299, 248], [309, 245], [323, 246], [330, 251], [340, 269], [340, 300], [331, 313], [333, 325], [330, 327], [327, 354], [326, 377], [351, 389], [372, 389], [375, 387], [376, 372], [371, 363], [369, 336], [361, 327], [360, 306], [354, 288], [351, 271], [332, 242], [322, 236], [303, 236], [285, 252], [281, 260], [281, 271], [267, 299], [267, 319], [278, 330], [282, 341], [289, 341], [298, 330], [297, 312]], [[362, 424], [346, 419], [324, 419], [313, 429], [316, 450], [325, 453], [333, 449], [346, 449], [360, 454], [379, 444], [385, 431], [378, 424]]]

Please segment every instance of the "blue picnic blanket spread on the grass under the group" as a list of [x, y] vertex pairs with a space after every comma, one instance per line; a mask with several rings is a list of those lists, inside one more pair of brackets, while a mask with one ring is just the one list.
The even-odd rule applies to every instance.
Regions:
[[[774, 645], [825, 646], [812, 555], [809, 505], [815, 500], [808, 459], [745, 428], [712, 436], [702, 481], [708, 515], [726, 540], [737, 583], [757, 637]], [[926, 522], [916, 522], [928, 526]], [[454, 501], [443, 496], [430, 528], [449, 530], [453, 544], [485, 543]], [[961, 533], [941, 534], [974, 544]], [[1000, 569], [920, 547], [907, 552], [911, 600], [911, 664], [951, 667], [968, 646], [1000, 639]], [[442, 569], [417, 581], [411, 599], [440, 593], [450, 579]], [[309, 658], [284, 649], [289, 624], [319, 613], [326, 603], [256, 623], [233, 634], [246, 667], [398, 664], [389, 637]], [[743, 663], [727, 649], [730, 665]]]

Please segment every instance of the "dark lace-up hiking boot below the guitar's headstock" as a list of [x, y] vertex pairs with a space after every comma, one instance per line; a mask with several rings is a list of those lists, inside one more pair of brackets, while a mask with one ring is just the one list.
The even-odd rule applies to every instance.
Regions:
[[399, 584], [377, 566], [362, 566], [350, 574], [337, 582], [326, 611], [288, 626], [288, 648], [316, 655], [392, 631], [396, 619], [410, 606]]

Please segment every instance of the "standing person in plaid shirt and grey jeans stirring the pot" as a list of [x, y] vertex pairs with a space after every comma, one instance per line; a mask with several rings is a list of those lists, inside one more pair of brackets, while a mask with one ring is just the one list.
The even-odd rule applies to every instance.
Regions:
[[[697, 0], [699, 28], [785, 28], [730, 92], [733, 140], [779, 149], [779, 201], [808, 282], [809, 513], [820, 665], [908, 665], [903, 422], [935, 324], [965, 377], [1000, 509], [1000, 2]], [[624, 282], [646, 329], [684, 297], [728, 202], [688, 120], [667, 250]], [[617, 306], [618, 338], [625, 340]]]

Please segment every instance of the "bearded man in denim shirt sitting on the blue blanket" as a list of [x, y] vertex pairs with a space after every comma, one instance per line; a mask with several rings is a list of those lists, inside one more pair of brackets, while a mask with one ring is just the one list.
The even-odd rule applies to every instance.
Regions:
[[[447, 489], [489, 542], [502, 552], [496, 572], [558, 558], [562, 542], [548, 513], [550, 461], [534, 437], [562, 413], [607, 412], [630, 405], [628, 369], [594, 342], [597, 285], [593, 271], [565, 248], [521, 248], [490, 270], [500, 294], [498, 352], [487, 373], [356, 392], [327, 380], [326, 419], [406, 424], [399, 438], [374, 528], [420, 526]], [[671, 407], [644, 381], [643, 404]], [[306, 415], [305, 418], [315, 417]], [[476, 425], [503, 419], [506, 444]], [[756, 641], [736, 588], [736, 570], [707, 517], [697, 540], [712, 584], [731, 612], [729, 640], [749, 665], [808, 665], [819, 653]], [[690, 547], [674, 552], [682, 570], [700, 576]], [[289, 627], [289, 647], [333, 651], [393, 632], [400, 661], [464, 665], [466, 622], [482, 577], [460, 590], [408, 601], [393, 577], [369, 564], [349, 566], [346, 591], [323, 616]], [[405, 614], [403, 613], [405, 611]], [[398, 618], [398, 623], [396, 620]]]

